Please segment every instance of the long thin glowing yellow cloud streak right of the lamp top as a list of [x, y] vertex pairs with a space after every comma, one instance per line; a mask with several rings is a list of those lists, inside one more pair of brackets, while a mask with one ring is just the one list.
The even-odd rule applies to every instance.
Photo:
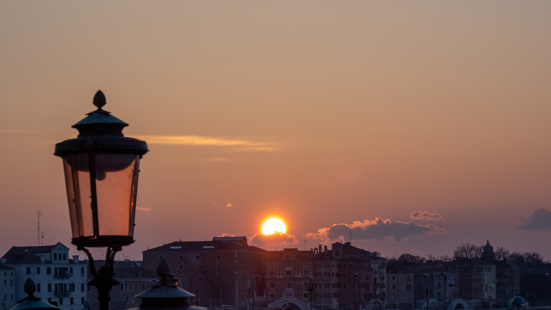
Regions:
[[274, 151], [279, 148], [273, 142], [202, 137], [200, 135], [140, 135], [136, 138], [150, 144], [213, 145], [231, 147], [241, 151]]

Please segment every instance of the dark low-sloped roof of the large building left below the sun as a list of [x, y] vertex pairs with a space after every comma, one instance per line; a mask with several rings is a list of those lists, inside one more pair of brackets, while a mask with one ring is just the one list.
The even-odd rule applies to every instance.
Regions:
[[255, 246], [248, 246], [239, 243], [222, 242], [222, 241], [175, 241], [163, 246], [148, 249], [142, 253], [155, 253], [155, 252], [201, 252], [201, 251], [255, 251], [265, 252], [265, 249], [261, 249]]

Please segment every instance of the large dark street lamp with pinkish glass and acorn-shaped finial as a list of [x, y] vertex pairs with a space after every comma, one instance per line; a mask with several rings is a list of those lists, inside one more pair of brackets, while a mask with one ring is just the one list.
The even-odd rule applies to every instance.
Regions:
[[[105, 95], [99, 90], [93, 104], [97, 110], [74, 124], [79, 135], [56, 144], [54, 155], [63, 159], [71, 243], [89, 258], [89, 282], [98, 289], [100, 310], [109, 309], [109, 290], [115, 253], [134, 242], [134, 215], [139, 160], [148, 152], [144, 141], [125, 137], [127, 123], [102, 109]], [[105, 265], [96, 271], [86, 247], [107, 247]]]

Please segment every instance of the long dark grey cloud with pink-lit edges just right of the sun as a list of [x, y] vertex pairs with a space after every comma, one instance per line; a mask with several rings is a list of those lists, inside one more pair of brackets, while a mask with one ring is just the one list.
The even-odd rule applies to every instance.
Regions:
[[447, 231], [434, 224], [417, 225], [415, 222], [391, 222], [390, 219], [383, 220], [376, 217], [372, 221], [354, 221], [352, 225], [334, 224], [317, 232], [307, 233], [306, 237], [329, 243], [339, 239], [348, 240], [349, 233], [353, 234], [352, 237], [355, 240], [404, 241], [410, 236], [447, 234]]

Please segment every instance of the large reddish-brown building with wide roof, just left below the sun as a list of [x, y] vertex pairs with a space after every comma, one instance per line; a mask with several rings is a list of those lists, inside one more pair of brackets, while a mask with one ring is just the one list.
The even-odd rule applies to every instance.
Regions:
[[[143, 251], [145, 268], [156, 269], [165, 259], [182, 289], [194, 293], [195, 306], [240, 306], [250, 300], [251, 279], [264, 278], [268, 251], [249, 246], [246, 237], [214, 237], [212, 241], [180, 241]], [[256, 285], [263, 296], [264, 281]]]

